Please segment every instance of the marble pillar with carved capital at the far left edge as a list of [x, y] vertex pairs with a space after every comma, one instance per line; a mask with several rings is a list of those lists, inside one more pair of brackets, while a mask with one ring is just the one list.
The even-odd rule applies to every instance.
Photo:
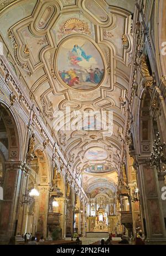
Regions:
[[18, 204], [20, 200], [21, 162], [5, 163], [4, 200], [1, 201], [0, 240], [8, 241], [17, 229]]

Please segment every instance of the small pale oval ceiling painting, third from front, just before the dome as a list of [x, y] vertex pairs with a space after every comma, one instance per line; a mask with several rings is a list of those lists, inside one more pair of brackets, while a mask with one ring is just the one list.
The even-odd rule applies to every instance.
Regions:
[[85, 157], [88, 160], [105, 160], [108, 157], [108, 154], [102, 147], [91, 147], [91, 149], [86, 151]]

